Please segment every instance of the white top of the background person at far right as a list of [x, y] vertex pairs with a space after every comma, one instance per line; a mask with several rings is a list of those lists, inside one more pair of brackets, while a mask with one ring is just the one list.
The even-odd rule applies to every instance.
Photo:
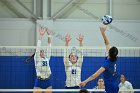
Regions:
[[[119, 89], [121, 90], [127, 90], [127, 89], [133, 89], [132, 84], [129, 81], [125, 81], [124, 84], [119, 84]], [[119, 93], [134, 93], [134, 92], [119, 92]]]

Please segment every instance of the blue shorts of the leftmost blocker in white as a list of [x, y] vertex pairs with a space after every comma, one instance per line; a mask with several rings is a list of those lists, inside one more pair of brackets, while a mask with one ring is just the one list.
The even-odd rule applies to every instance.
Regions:
[[51, 81], [50, 79], [48, 80], [40, 80], [40, 79], [36, 79], [35, 80], [35, 86], [34, 87], [39, 87], [39, 88], [42, 88], [42, 89], [46, 89], [48, 87], [51, 87]]

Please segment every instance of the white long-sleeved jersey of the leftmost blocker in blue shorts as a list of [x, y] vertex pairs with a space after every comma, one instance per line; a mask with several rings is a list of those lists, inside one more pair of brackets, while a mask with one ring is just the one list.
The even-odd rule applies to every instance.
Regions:
[[50, 57], [49, 58], [40, 57], [40, 46], [41, 46], [41, 41], [38, 40], [37, 49], [34, 56], [36, 74], [37, 76], [40, 76], [41, 78], [48, 78], [51, 75], [51, 70], [50, 70], [50, 65], [49, 65]]

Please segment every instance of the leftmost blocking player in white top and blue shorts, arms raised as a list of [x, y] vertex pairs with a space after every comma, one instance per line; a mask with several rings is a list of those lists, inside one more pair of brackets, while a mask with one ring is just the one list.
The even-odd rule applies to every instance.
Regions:
[[[51, 70], [49, 66], [49, 60], [51, 56], [51, 49], [47, 51], [47, 57], [45, 57], [45, 51], [41, 49], [41, 42], [44, 34], [47, 32], [48, 34], [48, 44], [51, 47], [51, 35], [46, 28], [42, 28], [39, 30], [40, 32], [40, 40], [37, 42], [37, 48], [34, 56], [35, 68], [36, 68], [36, 81], [34, 85], [34, 89], [51, 89], [50, 75]], [[40, 91], [34, 91], [34, 93], [42, 93]], [[51, 93], [51, 92], [44, 92]]]

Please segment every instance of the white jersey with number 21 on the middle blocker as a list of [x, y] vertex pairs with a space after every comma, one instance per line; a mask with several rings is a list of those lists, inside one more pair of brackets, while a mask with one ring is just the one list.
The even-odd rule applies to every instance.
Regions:
[[[64, 64], [65, 64], [65, 71], [66, 71], [66, 86], [67, 87], [74, 87], [79, 86], [81, 82], [81, 66], [83, 62], [83, 56], [78, 58], [75, 64], [72, 64], [68, 61], [68, 50], [66, 55], [64, 56]], [[66, 59], [67, 58], [67, 59]]]

